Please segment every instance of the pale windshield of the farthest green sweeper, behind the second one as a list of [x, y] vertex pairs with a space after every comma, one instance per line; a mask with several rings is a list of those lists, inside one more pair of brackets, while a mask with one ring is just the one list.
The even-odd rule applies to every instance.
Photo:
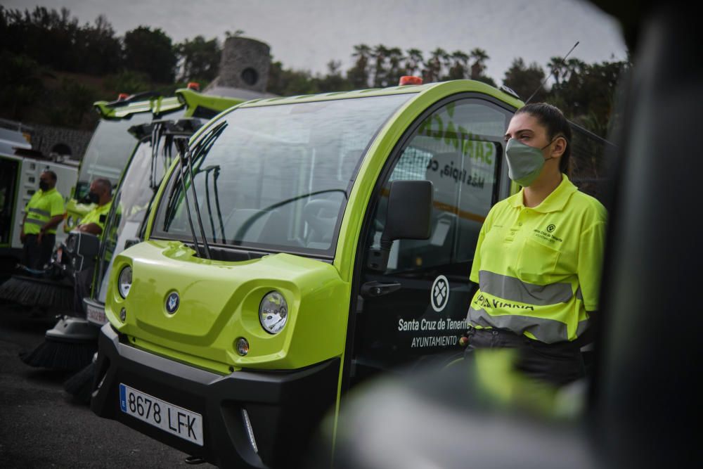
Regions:
[[153, 119], [151, 113], [137, 113], [130, 119], [101, 120], [96, 127], [86, 153], [81, 162], [74, 198], [81, 200], [90, 188], [90, 183], [98, 177], [110, 179], [112, 186], [120, 181], [124, 165], [134, 150], [136, 140], [127, 129]]

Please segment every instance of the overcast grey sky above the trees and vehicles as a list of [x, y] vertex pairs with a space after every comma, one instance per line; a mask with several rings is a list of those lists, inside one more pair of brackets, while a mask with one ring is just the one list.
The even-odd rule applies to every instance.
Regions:
[[174, 41], [226, 31], [271, 46], [286, 68], [326, 71], [330, 60], [352, 63], [355, 44], [452, 52], [484, 49], [486, 74], [501, 84], [516, 57], [545, 67], [576, 41], [571, 57], [587, 63], [621, 60], [619, 25], [583, 0], [0, 0], [6, 8], [66, 7], [81, 23], [107, 16], [118, 35], [139, 25], [160, 27]]

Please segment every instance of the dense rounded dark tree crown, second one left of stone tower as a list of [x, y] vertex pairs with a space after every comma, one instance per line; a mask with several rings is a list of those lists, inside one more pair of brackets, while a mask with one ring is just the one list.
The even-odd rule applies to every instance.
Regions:
[[139, 26], [124, 33], [124, 63], [131, 70], [155, 82], [173, 82], [177, 61], [172, 40], [161, 28]]

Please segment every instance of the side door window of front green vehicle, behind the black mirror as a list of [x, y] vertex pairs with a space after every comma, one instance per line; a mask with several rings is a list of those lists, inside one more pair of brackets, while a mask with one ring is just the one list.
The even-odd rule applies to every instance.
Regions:
[[[506, 119], [504, 110], [466, 99], [439, 108], [414, 131], [382, 191], [375, 226], [384, 224], [390, 181], [425, 179], [434, 187], [432, 236], [394, 242], [390, 272], [473, 259], [479, 230], [496, 198]], [[376, 245], [380, 234], [374, 232]]]

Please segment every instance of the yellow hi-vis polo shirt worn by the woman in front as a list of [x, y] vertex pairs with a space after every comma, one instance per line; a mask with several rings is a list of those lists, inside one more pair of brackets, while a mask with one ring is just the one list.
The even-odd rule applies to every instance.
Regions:
[[524, 206], [523, 191], [484, 221], [467, 320], [546, 343], [574, 340], [588, 326], [587, 311], [598, 309], [605, 207], [566, 175], [536, 207]]

